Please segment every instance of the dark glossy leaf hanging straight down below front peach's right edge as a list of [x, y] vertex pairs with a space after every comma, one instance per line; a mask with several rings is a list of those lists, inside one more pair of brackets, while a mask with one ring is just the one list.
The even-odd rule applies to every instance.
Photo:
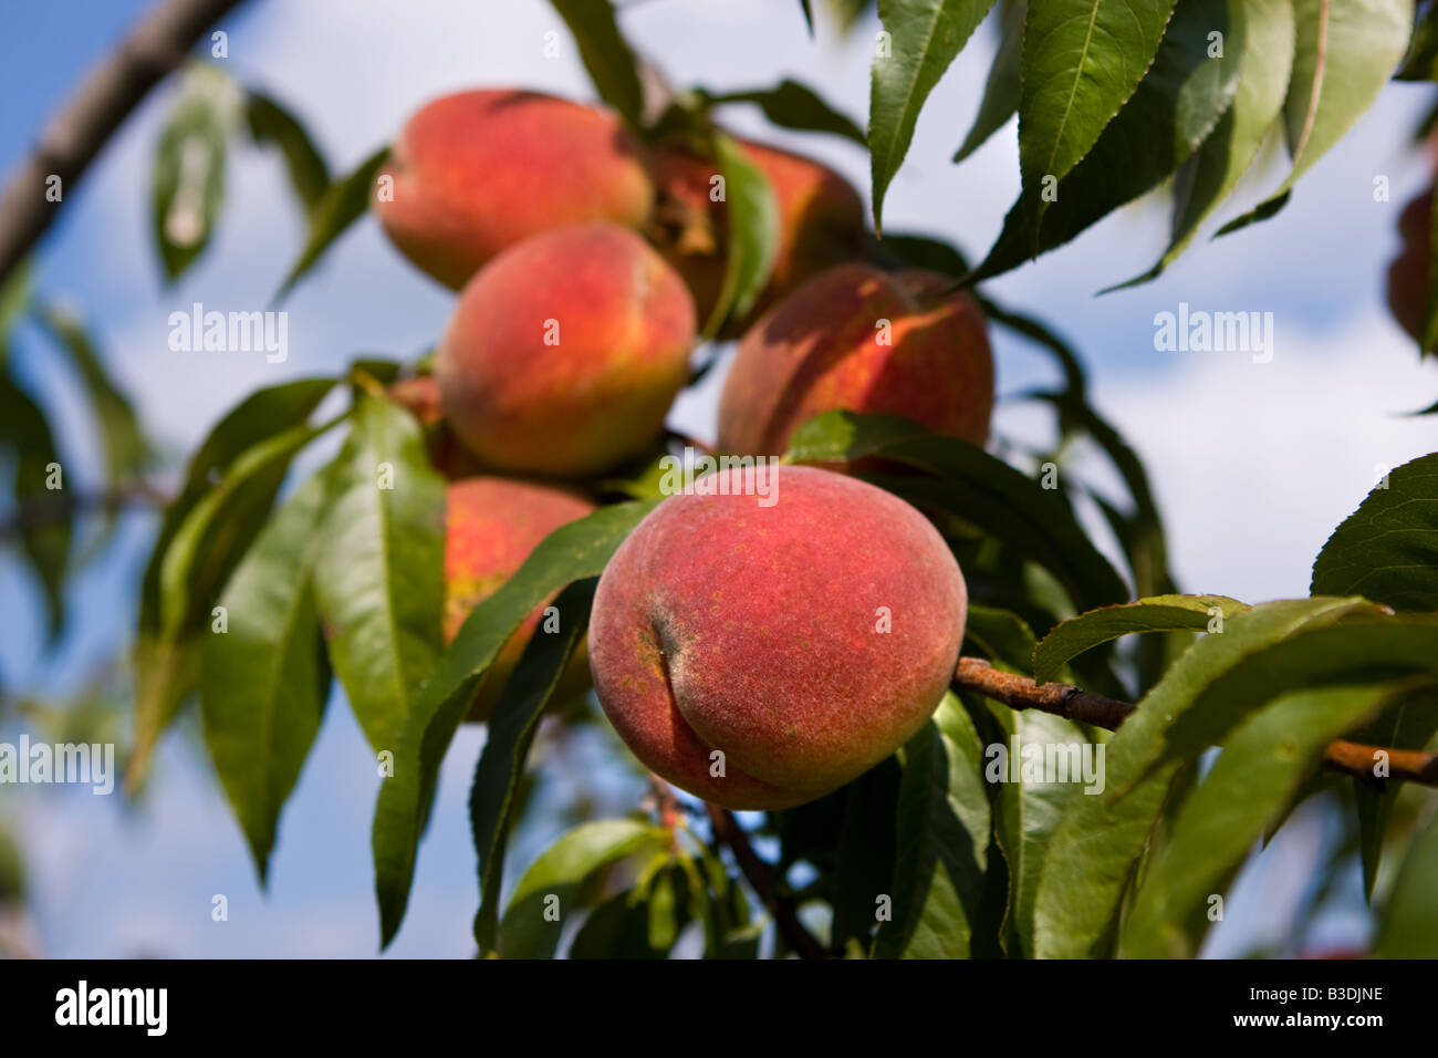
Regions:
[[893, 918], [877, 959], [968, 959], [988, 864], [984, 744], [953, 692], [903, 749]]

